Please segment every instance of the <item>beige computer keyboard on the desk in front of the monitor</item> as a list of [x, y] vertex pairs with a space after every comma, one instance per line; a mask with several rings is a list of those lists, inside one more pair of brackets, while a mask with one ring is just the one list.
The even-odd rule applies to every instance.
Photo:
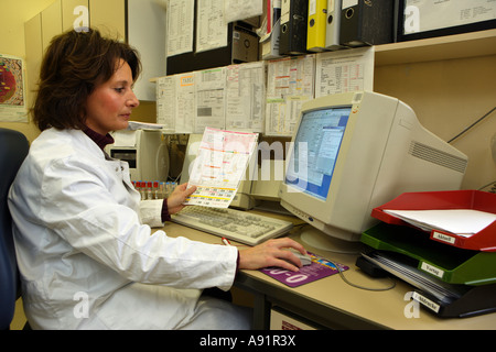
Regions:
[[293, 227], [289, 221], [242, 210], [201, 206], [188, 206], [171, 218], [183, 226], [249, 245], [282, 235]]

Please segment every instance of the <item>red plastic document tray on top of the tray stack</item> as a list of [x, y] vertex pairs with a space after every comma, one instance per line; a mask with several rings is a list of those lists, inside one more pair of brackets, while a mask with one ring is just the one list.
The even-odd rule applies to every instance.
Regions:
[[[441, 210], [473, 209], [496, 213], [496, 195], [479, 190], [446, 190], [425, 193], [405, 193], [393, 200], [377, 207], [371, 216], [390, 224], [410, 226], [384, 210]], [[464, 238], [451, 232], [432, 230], [431, 240], [460, 249], [496, 252], [496, 221], [484, 230]]]

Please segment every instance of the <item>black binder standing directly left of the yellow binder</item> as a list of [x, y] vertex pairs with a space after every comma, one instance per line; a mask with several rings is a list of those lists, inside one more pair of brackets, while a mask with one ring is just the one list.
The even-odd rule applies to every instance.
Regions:
[[306, 21], [309, 0], [282, 0], [280, 55], [300, 55], [306, 53]]

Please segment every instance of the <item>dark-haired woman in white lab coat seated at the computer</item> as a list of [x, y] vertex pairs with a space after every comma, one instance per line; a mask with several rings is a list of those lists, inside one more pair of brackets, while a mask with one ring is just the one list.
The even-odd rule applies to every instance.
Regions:
[[33, 109], [42, 133], [9, 195], [28, 320], [35, 329], [249, 329], [249, 311], [202, 290], [228, 290], [239, 268], [296, 271], [282, 249], [304, 249], [279, 239], [238, 252], [152, 234], [194, 189], [141, 201], [128, 164], [103, 150], [139, 105], [139, 73], [137, 53], [97, 31], [67, 32], [47, 50]]

